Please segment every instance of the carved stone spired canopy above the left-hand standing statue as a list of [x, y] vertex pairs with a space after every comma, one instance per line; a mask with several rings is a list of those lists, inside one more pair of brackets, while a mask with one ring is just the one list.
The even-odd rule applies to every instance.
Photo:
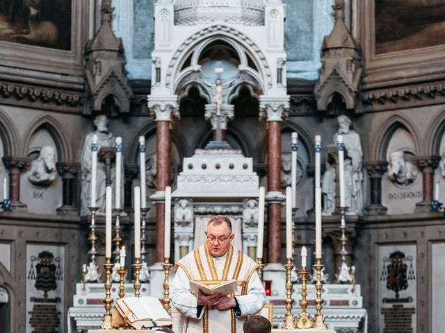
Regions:
[[119, 112], [130, 111], [133, 92], [125, 74], [122, 40], [111, 29], [112, 12], [111, 5], [103, 1], [102, 25], [86, 45], [85, 74], [89, 99], [84, 114], [101, 112], [106, 103], [113, 103]]

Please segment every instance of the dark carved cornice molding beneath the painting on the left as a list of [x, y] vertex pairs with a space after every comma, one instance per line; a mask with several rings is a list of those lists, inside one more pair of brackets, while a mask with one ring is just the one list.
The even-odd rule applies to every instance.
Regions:
[[65, 92], [58, 89], [42, 89], [31, 85], [16, 83], [0, 83], [0, 95], [4, 99], [28, 101], [29, 103], [42, 103], [56, 105], [57, 107], [76, 107], [83, 104], [83, 94]]

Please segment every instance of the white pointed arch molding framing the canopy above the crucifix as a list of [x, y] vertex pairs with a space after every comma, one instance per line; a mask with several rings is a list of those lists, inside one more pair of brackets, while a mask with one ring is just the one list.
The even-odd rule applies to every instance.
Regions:
[[186, 40], [184, 40], [184, 42], [177, 48], [177, 51], [172, 56], [172, 60], [170, 60], [170, 63], [168, 64], [167, 75], [165, 76], [166, 87], [170, 87], [170, 85], [172, 84], [173, 69], [176, 67], [177, 62], [181, 60], [181, 53], [183, 53], [190, 44], [194, 44], [198, 40], [205, 40], [216, 33], [224, 33], [225, 35], [229, 35], [232, 39], [238, 40], [238, 42], [242, 42], [242, 44], [251, 49], [252, 52], [257, 53], [257, 59], [264, 67], [264, 71], [266, 74], [266, 83], [268, 87], [272, 87], [272, 74], [270, 73], [270, 67], [266, 60], [266, 56], [261, 51], [259, 46], [257, 46], [257, 44], [252, 41], [247, 35], [241, 33], [241, 31], [220, 24], [208, 26], [207, 28], [203, 28], [199, 32], [194, 33]]

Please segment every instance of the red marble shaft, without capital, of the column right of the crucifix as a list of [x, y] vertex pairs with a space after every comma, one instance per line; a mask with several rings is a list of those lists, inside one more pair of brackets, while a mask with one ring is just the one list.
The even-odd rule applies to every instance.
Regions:
[[[268, 191], [281, 191], [281, 121], [268, 122]], [[268, 207], [268, 262], [281, 262], [281, 204]]]

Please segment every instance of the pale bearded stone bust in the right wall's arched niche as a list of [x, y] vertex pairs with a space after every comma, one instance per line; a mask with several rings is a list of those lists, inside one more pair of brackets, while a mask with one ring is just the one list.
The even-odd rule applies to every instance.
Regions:
[[388, 177], [399, 185], [410, 185], [416, 180], [419, 171], [414, 164], [405, 160], [405, 152], [394, 151], [389, 154]]

